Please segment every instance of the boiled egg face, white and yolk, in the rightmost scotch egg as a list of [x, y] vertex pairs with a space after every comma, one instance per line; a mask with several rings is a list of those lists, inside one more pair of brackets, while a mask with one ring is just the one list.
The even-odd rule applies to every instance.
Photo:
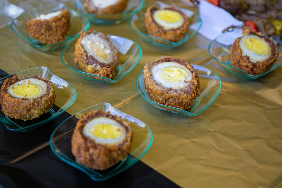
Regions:
[[245, 35], [240, 39], [239, 46], [242, 55], [249, 56], [250, 61], [253, 63], [264, 61], [271, 54], [270, 45], [259, 36]]

